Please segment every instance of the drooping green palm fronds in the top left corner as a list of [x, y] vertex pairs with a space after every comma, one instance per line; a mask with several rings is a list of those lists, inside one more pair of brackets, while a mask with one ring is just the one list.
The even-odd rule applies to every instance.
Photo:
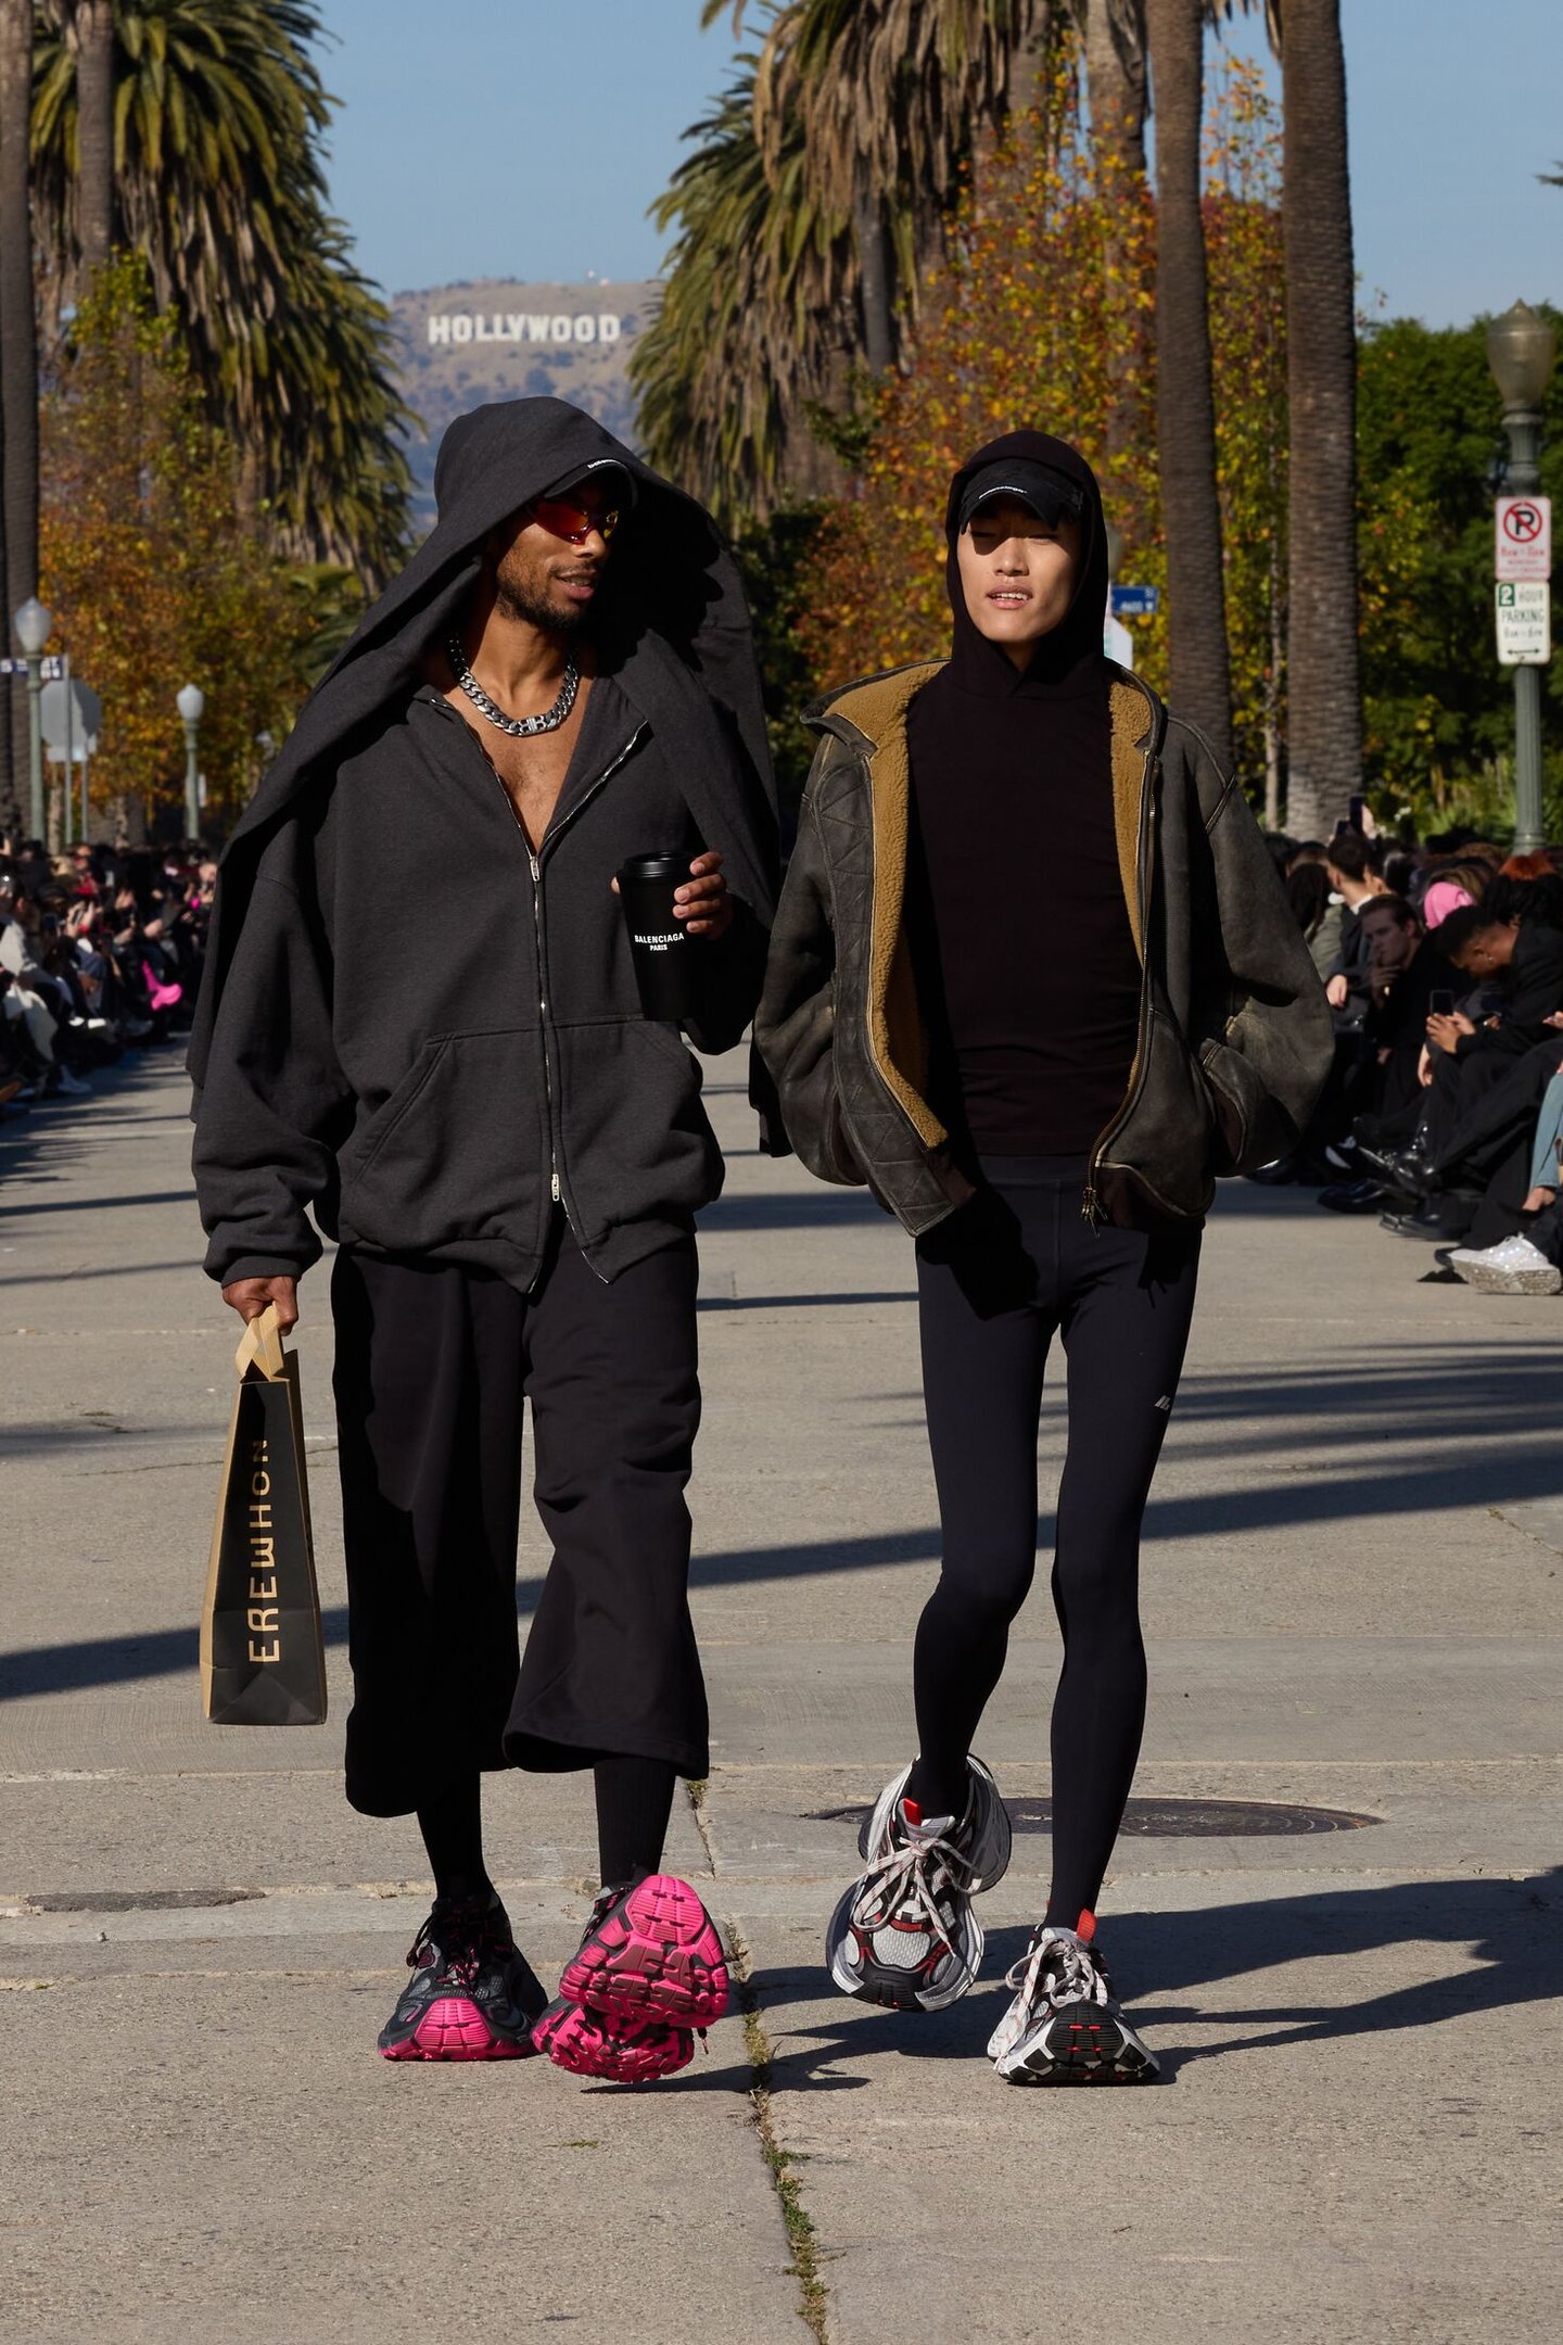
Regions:
[[[96, 0], [45, 19], [37, 42], [33, 202], [52, 319], [101, 237], [84, 7]], [[286, 551], [384, 577], [405, 537], [410, 415], [389, 312], [326, 211], [319, 30], [314, 0], [117, 0], [112, 220], [180, 317], [209, 410], [251, 457]]]

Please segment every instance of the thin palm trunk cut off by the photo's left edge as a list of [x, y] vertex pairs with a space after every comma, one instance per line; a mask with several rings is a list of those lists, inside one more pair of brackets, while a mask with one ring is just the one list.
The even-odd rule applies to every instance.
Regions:
[[[5, 441], [5, 643], [37, 593], [37, 317], [33, 310], [33, 0], [0, 0], [0, 439]], [[9, 793], [28, 795], [26, 682], [9, 685]]]

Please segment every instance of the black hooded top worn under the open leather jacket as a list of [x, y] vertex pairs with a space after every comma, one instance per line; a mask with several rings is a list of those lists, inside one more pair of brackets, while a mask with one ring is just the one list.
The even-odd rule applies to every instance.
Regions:
[[[1083, 492], [1080, 579], [1024, 673], [965, 610], [956, 558], [968, 481], [1017, 457]], [[954, 645], [907, 725], [935, 1104], [975, 1156], [1076, 1158], [1122, 1104], [1141, 999], [1113, 825], [1101, 490], [1066, 441], [1010, 431], [954, 476], [944, 530]]]

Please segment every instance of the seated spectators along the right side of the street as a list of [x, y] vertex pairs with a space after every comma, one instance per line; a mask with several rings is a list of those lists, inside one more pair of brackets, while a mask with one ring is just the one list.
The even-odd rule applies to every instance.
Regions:
[[1296, 1156], [1254, 1177], [1315, 1182], [1322, 1205], [1376, 1212], [1474, 1287], [1556, 1294], [1563, 854], [1350, 828], [1270, 847], [1329, 990], [1336, 1062]]

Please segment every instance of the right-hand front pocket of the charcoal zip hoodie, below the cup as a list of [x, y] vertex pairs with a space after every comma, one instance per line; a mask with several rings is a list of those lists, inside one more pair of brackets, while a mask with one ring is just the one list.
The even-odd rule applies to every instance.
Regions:
[[701, 1069], [673, 1027], [598, 1018], [553, 1029], [560, 1172], [581, 1238], [687, 1219], [722, 1189]]

